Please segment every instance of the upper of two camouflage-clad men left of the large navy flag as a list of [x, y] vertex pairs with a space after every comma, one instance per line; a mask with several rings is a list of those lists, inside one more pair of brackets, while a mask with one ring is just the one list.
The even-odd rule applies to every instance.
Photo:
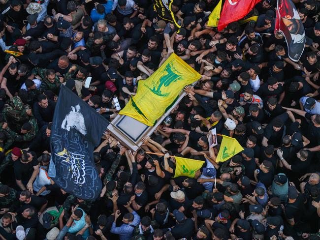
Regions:
[[30, 120], [32, 111], [30, 105], [23, 104], [19, 96], [14, 96], [10, 104], [4, 106], [2, 114], [9, 127], [20, 132], [22, 125]]

